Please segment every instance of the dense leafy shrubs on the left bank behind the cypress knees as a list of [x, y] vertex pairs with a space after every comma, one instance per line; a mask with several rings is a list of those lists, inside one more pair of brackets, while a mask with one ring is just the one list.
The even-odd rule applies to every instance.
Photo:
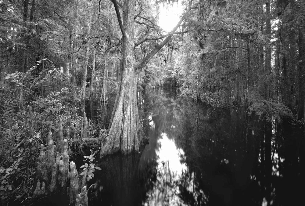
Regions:
[[[29, 196], [38, 145], [45, 143], [47, 128], [54, 131], [57, 127], [55, 122], [59, 116], [70, 111], [70, 135], [76, 137], [80, 133], [81, 118], [76, 113], [78, 108], [69, 105], [70, 102], [66, 100], [71, 88], [62, 87], [59, 91], [48, 89], [57, 89], [57, 81], [62, 81], [63, 77], [57, 68], [49, 67], [46, 61], [39, 61], [27, 72], [7, 74], [5, 79], [9, 80], [9, 86], [1, 88], [0, 195], [3, 202]], [[78, 99], [72, 96], [73, 93], [70, 93], [70, 99]], [[66, 125], [63, 126], [65, 129]]]

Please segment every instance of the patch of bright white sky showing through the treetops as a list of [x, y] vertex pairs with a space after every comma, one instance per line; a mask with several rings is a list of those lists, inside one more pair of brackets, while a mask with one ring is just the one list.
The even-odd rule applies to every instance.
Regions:
[[171, 31], [180, 20], [179, 16], [182, 14], [182, 10], [183, 7], [177, 2], [168, 8], [160, 5], [159, 26], [167, 32]]

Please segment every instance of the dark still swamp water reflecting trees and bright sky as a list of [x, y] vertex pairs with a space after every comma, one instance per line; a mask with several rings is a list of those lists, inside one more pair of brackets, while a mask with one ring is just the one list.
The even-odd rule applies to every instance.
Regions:
[[[90, 118], [107, 125], [111, 111], [97, 107], [91, 104]], [[214, 110], [177, 90], [139, 92], [138, 107], [149, 145], [99, 160], [89, 205], [303, 205], [297, 128]]]

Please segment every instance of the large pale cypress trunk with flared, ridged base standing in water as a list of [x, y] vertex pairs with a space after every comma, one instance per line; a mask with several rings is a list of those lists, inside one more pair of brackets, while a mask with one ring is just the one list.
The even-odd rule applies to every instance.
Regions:
[[135, 70], [134, 51], [134, 13], [135, 0], [124, 1], [121, 75], [116, 102], [113, 108], [108, 136], [101, 147], [101, 156], [120, 151], [129, 153], [139, 151], [143, 144], [144, 132], [137, 107], [137, 80], [139, 71]]

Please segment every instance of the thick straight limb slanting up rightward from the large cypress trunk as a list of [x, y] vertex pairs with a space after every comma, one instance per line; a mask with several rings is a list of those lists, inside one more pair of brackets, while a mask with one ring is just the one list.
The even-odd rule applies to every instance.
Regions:
[[135, 66], [135, 70], [141, 70], [143, 67], [145, 67], [145, 65], [149, 62], [149, 60], [152, 59], [153, 56], [155, 56], [155, 54], [162, 49], [162, 47], [167, 44], [167, 42], [170, 41], [171, 37], [173, 36], [173, 34], [175, 33], [175, 31], [178, 29], [178, 27], [180, 26], [180, 24], [185, 20], [186, 15], [188, 15], [189, 11], [195, 7], [191, 7], [192, 4], [192, 0], [190, 2], [190, 4], [188, 5], [188, 9], [185, 11], [184, 15], [182, 16], [182, 18], [180, 19], [180, 21], [177, 23], [177, 25], [172, 29], [172, 31], [170, 31], [167, 34], [167, 37], [163, 40], [163, 42], [161, 42], [158, 46], [155, 47], [155, 49], [153, 49], [147, 56], [145, 56], [142, 60], [140, 60], [137, 65]]

